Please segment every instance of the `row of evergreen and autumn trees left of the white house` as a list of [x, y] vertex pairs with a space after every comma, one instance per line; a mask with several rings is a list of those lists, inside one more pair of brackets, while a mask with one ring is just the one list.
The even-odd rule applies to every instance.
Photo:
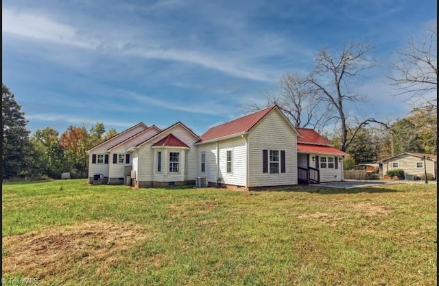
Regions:
[[25, 114], [14, 94], [2, 83], [3, 179], [16, 177], [60, 179], [62, 172], [72, 178], [88, 177], [88, 155], [85, 151], [117, 135], [106, 131], [104, 123], [69, 126], [63, 133], [51, 127], [27, 130]]

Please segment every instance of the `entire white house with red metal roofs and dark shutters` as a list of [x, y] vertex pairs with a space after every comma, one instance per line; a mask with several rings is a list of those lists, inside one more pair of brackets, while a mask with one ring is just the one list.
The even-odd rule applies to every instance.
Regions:
[[296, 129], [277, 105], [212, 127], [201, 136], [177, 122], [139, 123], [87, 151], [88, 177], [138, 187], [194, 183], [258, 187], [342, 181], [343, 157], [312, 129]]

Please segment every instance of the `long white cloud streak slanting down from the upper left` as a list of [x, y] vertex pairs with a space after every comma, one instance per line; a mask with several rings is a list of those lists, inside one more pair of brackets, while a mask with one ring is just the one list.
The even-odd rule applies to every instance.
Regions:
[[[85, 30], [54, 21], [43, 14], [19, 12], [10, 8], [2, 10], [3, 36], [15, 36], [25, 40], [65, 44], [87, 50], [97, 50], [108, 55], [129, 55], [146, 59], [168, 60], [196, 64], [227, 75], [255, 81], [274, 81], [273, 75], [249, 64], [239, 62], [237, 57], [229, 60], [227, 55], [191, 51], [187, 49], [163, 48], [156, 40], [139, 42], [138, 39], [112, 39], [104, 33], [88, 34]], [[121, 34], [114, 31], [112, 34]], [[139, 35], [138, 35], [139, 36]], [[141, 38], [141, 37], [138, 37]], [[3, 40], [4, 41], [4, 40]], [[216, 54], [216, 55], [215, 55]]]

